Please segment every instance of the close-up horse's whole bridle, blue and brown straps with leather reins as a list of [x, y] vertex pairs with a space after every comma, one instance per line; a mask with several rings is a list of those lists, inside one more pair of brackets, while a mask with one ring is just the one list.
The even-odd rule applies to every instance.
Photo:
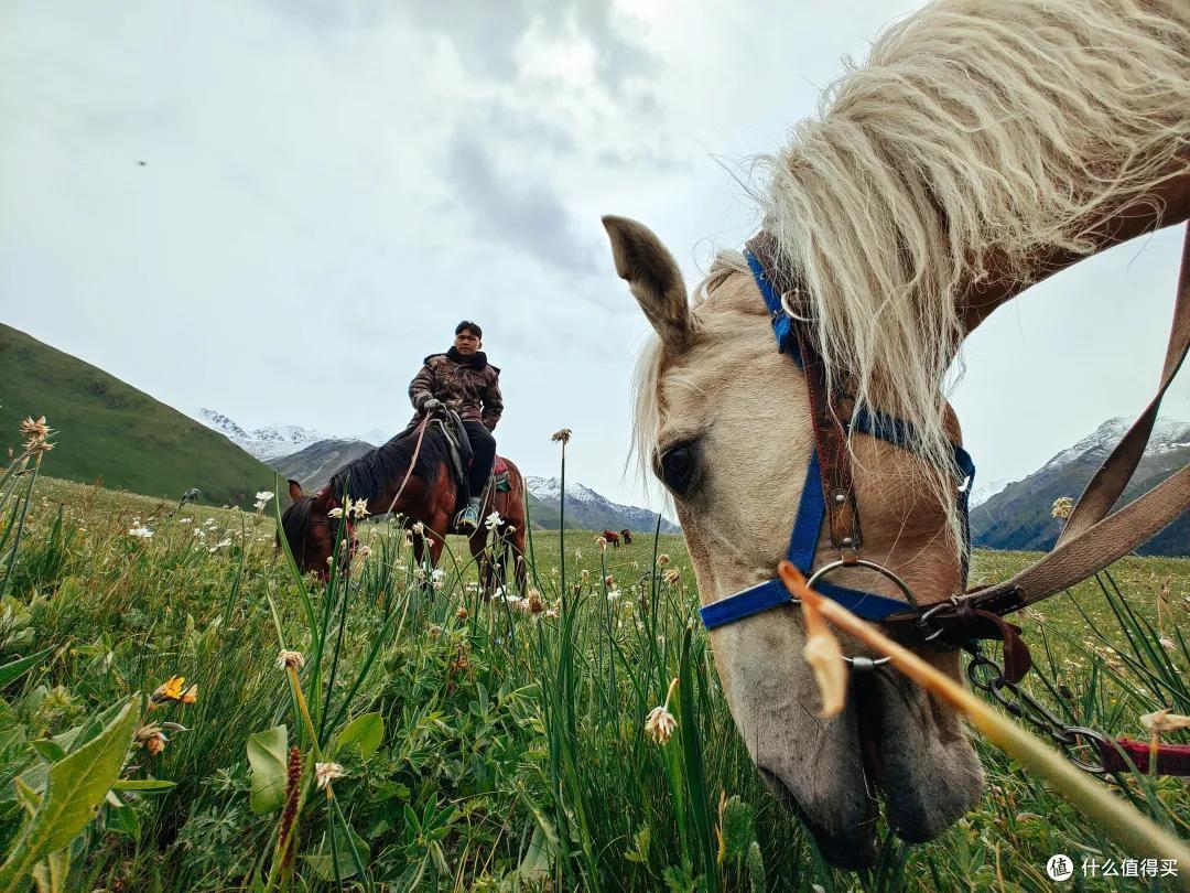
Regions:
[[[762, 231], [750, 239], [745, 256], [769, 308], [777, 350], [788, 354], [802, 370], [810, 398], [814, 452], [807, 468], [787, 549], [788, 560], [809, 577], [807, 582], [814, 589], [859, 617], [878, 622], [885, 632], [902, 643], [928, 643], [940, 651], [965, 648], [972, 654], [967, 672], [973, 683], [992, 693], [1012, 712], [1048, 731], [1067, 751], [1077, 747], [1081, 739], [1095, 741], [1100, 745], [1102, 767], [1114, 766], [1116, 770], [1121, 769], [1125, 764], [1116, 749], [1127, 749], [1127, 742], [1109, 742], [1088, 729], [1061, 726], [1052, 713], [1046, 712], [1017, 687], [1032, 661], [1021, 638], [1021, 629], [1004, 620], [1004, 616], [1089, 579], [1154, 536], [1190, 507], [1188, 466], [1109, 514], [1144, 455], [1161, 398], [1190, 350], [1190, 225], [1183, 244], [1178, 293], [1160, 386], [1145, 412], [1088, 483], [1053, 550], [1009, 580], [957, 593], [928, 606], [917, 604], [909, 587], [891, 569], [860, 557], [864, 541], [847, 449], [848, 435], [857, 432], [902, 449], [908, 448], [914, 442], [910, 426], [901, 419], [866, 407], [860, 407], [856, 413], [853, 398], [838, 388], [827, 387], [826, 366], [810, 330], [813, 318], [804, 312], [798, 300], [796, 279], [778, 262], [779, 254], [772, 236]], [[962, 579], [966, 589], [971, 552], [967, 514], [975, 464], [962, 447], [953, 444], [953, 470], [962, 481], [957, 498], [963, 522]], [[839, 558], [813, 570], [823, 524], [827, 525], [831, 545], [839, 551]], [[835, 586], [823, 579], [835, 570], [856, 567], [866, 568], [890, 580], [906, 597], [906, 601]], [[706, 605], [699, 613], [706, 627], [713, 630], [790, 604], [797, 604], [797, 600], [789, 595], [775, 576]], [[1002, 668], [981, 654], [981, 639], [998, 639], [1003, 643]], [[871, 670], [883, 662], [871, 658], [844, 660], [852, 664], [853, 672]], [[984, 676], [973, 675], [973, 668], [989, 664], [998, 672], [996, 679], [988, 681]], [[1015, 695], [1016, 700], [1010, 702], [1006, 699], [1004, 691]], [[1177, 764], [1190, 773], [1190, 747], [1165, 747], [1166, 764]], [[1173, 758], [1170, 756], [1172, 751], [1178, 753], [1173, 754], [1176, 760], [1170, 762]], [[1139, 751], [1130, 756], [1138, 756], [1139, 766]], [[1161, 768], [1160, 756], [1158, 760], [1158, 768]], [[1089, 770], [1102, 769], [1084, 762], [1079, 764]]]

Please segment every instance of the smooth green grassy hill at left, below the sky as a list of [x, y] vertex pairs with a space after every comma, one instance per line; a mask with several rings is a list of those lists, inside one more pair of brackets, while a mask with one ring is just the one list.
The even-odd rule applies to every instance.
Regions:
[[246, 506], [273, 470], [223, 435], [101, 369], [0, 325], [0, 447], [15, 447], [26, 416], [58, 433], [56, 477], [177, 499], [189, 487], [212, 505]]

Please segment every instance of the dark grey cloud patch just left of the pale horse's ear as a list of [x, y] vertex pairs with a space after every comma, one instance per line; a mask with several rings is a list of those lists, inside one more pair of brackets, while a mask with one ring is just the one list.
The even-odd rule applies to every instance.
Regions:
[[580, 241], [557, 194], [540, 182], [496, 169], [478, 139], [462, 131], [446, 152], [446, 173], [474, 233], [572, 274], [595, 270], [591, 245]]

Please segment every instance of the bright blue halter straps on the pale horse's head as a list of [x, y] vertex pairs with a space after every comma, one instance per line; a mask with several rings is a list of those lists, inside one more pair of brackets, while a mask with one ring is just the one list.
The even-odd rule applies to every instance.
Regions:
[[[764, 302], [769, 307], [772, 320], [772, 331], [777, 338], [777, 350], [789, 354], [798, 368], [803, 367], [801, 352], [797, 349], [797, 338], [793, 331], [793, 320], [785, 313], [781, 298], [776, 289], [764, 275], [760, 262], [751, 254], [746, 254], [752, 276], [764, 295]], [[896, 447], [907, 448], [912, 443], [912, 426], [901, 419], [887, 416], [879, 411], [869, 411], [862, 407], [856, 418], [847, 423], [851, 432], [878, 437]], [[954, 467], [957, 473], [966, 479], [963, 487], [959, 511], [963, 516], [963, 580], [966, 581], [967, 566], [971, 555], [971, 529], [969, 522], [969, 499], [971, 486], [975, 483], [975, 463], [959, 445], [954, 445]], [[797, 517], [794, 520], [794, 532], [789, 537], [789, 548], [785, 557], [797, 567], [806, 576], [810, 576], [810, 568], [814, 564], [814, 552], [818, 549], [819, 531], [826, 519], [826, 500], [822, 495], [821, 469], [819, 467], [819, 455], [815, 448], [810, 455], [809, 467], [806, 469], [806, 482], [802, 485], [802, 499], [797, 506]], [[890, 599], [885, 595], [877, 595], [862, 589], [848, 589], [844, 586], [835, 586], [829, 582], [818, 582], [814, 587], [827, 598], [834, 599], [848, 611], [868, 620], [883, 620], [890, 614], [904, 612], [912, 607], [903, 601]], [[724, 626], [745, 617], [752, 617], [762, 611], [790, 604], [789, 592], [777, 577], [757, 583], [747, 589], [728, 595], [710, 605], [699, 608], [702, 623], [708, 630]]]

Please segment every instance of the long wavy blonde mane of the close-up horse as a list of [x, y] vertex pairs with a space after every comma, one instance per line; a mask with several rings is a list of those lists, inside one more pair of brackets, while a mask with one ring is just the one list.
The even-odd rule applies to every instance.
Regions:
[[[913, 425], [945, 505], [958, 296], [1028, 279], [1045, 250], [1090, 254], [1095, 226], [1183, 174], [1188, 69], [1186, 0], [942, 0], [885, 31], [765, 161], [764, 226], [831, 375], [857, 411]], [[660, 360], [638, 371], [645, 429]]]

